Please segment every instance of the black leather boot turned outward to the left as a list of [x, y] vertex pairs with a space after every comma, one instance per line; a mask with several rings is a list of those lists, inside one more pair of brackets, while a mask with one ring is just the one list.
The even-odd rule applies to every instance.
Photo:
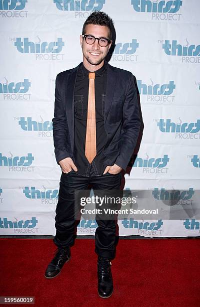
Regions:
[[71, 258], [70, 247], [67, 248], [57, 248], [54, 258], [48, 264], [44, 276], [46, 278], [53, 278], [57, 276], [64, 263], [68, 262]]

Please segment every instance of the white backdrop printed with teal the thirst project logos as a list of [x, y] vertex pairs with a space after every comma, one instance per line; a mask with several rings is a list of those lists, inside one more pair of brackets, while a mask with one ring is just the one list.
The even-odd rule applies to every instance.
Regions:
[[[91, 11], [114, 21], [110, 64], [137, 79], [142, 142], [124, 189], [199, 188], [199, 0], [0, 0], [0, 235], [54, 235], [56, 74], [82, 61]], [[199, 236], [199, 220], [122, 220], [119, 235]], [[78, 234], [93, 235], [95, 220]]]

